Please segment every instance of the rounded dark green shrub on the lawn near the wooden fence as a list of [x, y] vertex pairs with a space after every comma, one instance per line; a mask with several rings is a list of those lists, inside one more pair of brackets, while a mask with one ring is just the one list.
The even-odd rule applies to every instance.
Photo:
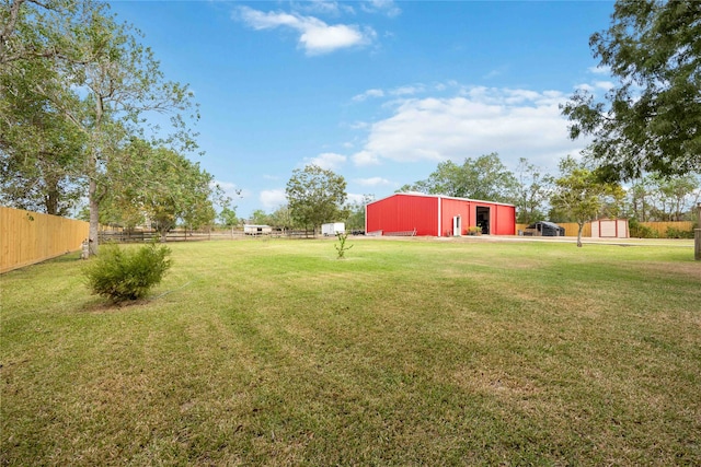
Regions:
[[100, 255], [85, 268], [88, 287], [114, 303], [146, 296], [171, 267], [171, 249], [156, 243], [138, 248], [116, 244], [101, 247]]

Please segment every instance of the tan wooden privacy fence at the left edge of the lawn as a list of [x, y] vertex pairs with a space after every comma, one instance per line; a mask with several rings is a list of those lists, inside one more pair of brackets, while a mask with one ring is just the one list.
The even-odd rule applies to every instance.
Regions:
[[0, 207], [0, 273], [76, 252], [89, 223]]

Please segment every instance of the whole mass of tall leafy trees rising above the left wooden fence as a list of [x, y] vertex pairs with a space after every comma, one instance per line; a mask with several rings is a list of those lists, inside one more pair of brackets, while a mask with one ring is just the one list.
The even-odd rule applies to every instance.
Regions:
[[85, 202], [91, 254], [101, 222], [214, 221], [221, 191], [187, 157], [197, 105], [138, 30], [93, 0], [8, 0], [0, 20], [0, 202]]

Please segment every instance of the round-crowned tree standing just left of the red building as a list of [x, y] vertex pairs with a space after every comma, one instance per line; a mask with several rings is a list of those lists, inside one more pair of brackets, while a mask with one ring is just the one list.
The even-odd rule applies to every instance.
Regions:
[[295, 170], [287, 182], [286, 195], [292, 218], [307, 229], [347, 217], [346, 182], [333, 171], [313, 164]]

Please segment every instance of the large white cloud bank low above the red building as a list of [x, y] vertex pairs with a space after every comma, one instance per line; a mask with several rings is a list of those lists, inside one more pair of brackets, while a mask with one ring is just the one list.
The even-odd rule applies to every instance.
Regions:
[[586, 145], [572, 142], [558, 91], [463, 87], [446, 98], [402, 101], [389, 118], [374, 122], [356, 165], [462, 161], [498, 152], [515, 167], [519, 157], [554, 167], [560, 157]]

